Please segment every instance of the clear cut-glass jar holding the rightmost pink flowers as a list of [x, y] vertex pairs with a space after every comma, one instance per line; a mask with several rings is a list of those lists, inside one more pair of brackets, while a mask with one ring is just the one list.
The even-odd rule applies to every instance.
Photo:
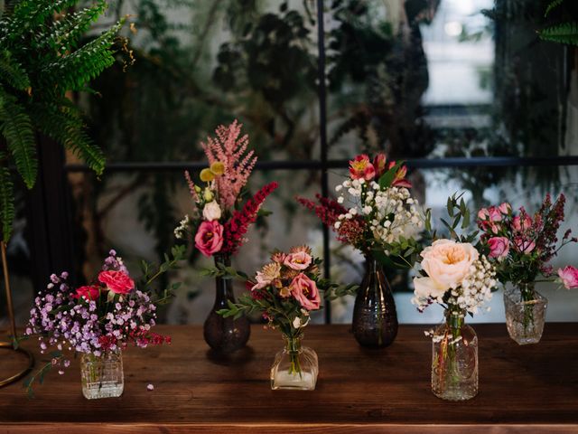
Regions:
[[548, 300], [536, 292], [534, 283], [506, 289], [504, 307], [509, 337], [520, 345], [540, 342]]

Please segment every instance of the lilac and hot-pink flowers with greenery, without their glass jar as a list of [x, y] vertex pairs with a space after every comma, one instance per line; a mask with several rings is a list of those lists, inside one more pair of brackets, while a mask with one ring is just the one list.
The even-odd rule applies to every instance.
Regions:
[[[184, 249], [172, 250], [173, 262], [163, 264], [154, 277], [144, 276], [142, 288], [136, 288], [123, 260], [110, 250], [96, 281], [74, 288], [69, 273], [52, 274], [50, 283], [34, 298], [30, 320], [24, 335], [38, 337], [41, 353], [51, 360], [39, 373], [58, 367], [59, 373], [70, 365], [65, 351], [92, 354], [99, 357], [109, 351], [126, 348], [129, 344], [144, 348], [152, 344], [169, 344], [169, 336], [151, 331], [156, 324], [156, 308], [163, 302], [155, 292], [147, 290], [165, 270], [182, 259]], [[147, 264], [147, 269], [153, 269]], [[163, 296], [168, 297], [168, 296]], [[49, 352], [52, 347], [53, 351]], [[32, 393], [33, 375], [25, 382]]]

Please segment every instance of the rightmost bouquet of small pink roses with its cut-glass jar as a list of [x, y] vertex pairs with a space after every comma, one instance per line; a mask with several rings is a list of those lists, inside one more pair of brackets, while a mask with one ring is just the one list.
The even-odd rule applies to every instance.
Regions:
[[[542, 337], [547, 299], [539, 294], [536, 282], [555, 281], [548, 265], [566, 244], [575, 242], [572, 231], [565, 231], [558, 245], [557, 232], [564, 222], [564, 194], [552, 203], [546, 194], [534, 215], [521, 207], [513, 212], [509, 203], [482, 208], [478, 212], [481, 241], [489, 260], [497, 269], [499, 281], [512, 288], [504, 292], [508, 333], [517, 344], [536, 344]], [[558, 269], [557, 281], [566, 288], [578, 288], [578, 269]], [[540, 277], [540, 279], [538, 279]]]

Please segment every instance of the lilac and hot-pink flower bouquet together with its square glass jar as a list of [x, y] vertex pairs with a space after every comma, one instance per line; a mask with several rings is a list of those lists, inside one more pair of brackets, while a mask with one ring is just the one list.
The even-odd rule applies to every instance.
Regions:
[[152, 328], [157, 306], [168, 301], [179, 284], [160, 294], [148, 288], [183, 257], [184, 249], [175, 247], [172, 259], [167, 257], [156, 271], [144, 262], [140, 286], [135, 285], [115, 250], [110, 250], [98, 278], [87, 286], [72, 287], [67, 272], [52, 274], [46, 289], [34, 299], [25, 329], [25, 337], [38, 337], [41, 353], [48, 354], [50, 361], [25, 380], [27, 392], [32, 395], [33, 383], [42, 383], [52, 368], [64, 374], [70, 366], [70, 357], [65, 355], [68, 350], [81, 354], [85, 398], [120, 396], [124, 390], [122, 350], [129, 344], [145, 348], [171, 342], [170, 336], [158, 335]]

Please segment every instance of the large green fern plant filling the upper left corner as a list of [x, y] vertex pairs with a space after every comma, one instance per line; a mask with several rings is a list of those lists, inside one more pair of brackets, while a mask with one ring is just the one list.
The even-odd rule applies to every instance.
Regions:
[[115, 62], [120, 20], [79, 46], [81, 36], [107, 9], [99, 0], [74, 13], [79, 0], [7, 1], [0, 10], [0, 222], [8, 241], [14, 221], [15, 166], [33, 188], [38, 172], [37, 134], [70, 149], [101, 175], [105, 157], [85, 131], [68, 91], [89, 91], [90, 80]]

